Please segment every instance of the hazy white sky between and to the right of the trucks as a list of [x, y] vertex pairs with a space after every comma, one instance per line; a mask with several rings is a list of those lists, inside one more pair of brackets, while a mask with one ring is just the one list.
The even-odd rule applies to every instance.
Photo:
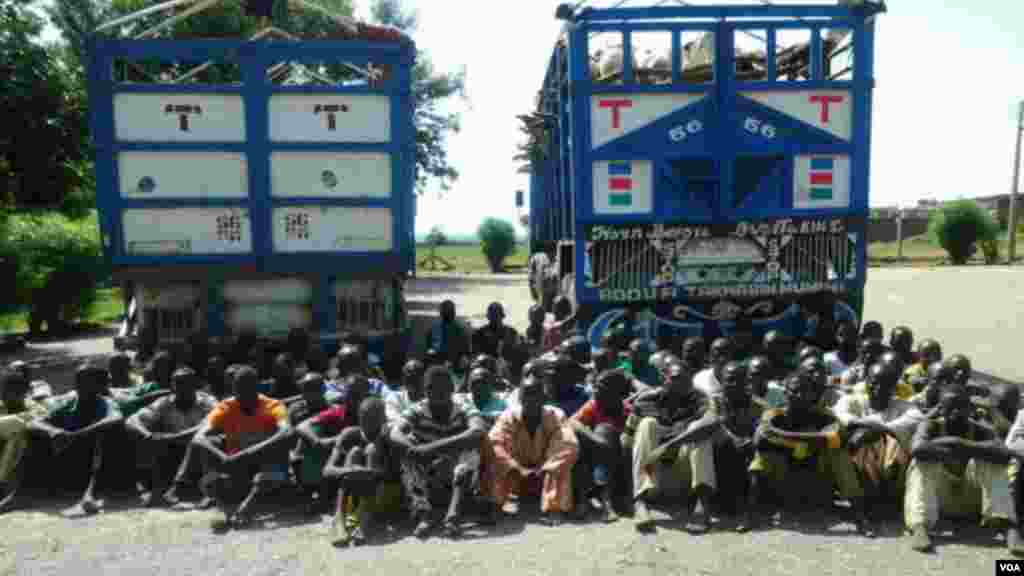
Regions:
[[[465, 66], [470, 97], [458, 106], [463, 130], [449, 147], [462, 176], [443, 196], [434, 187], [421, 198], [417, 231], [440, 224], [462, 234], [486, 216], [517, 220], [514, 192], [527, 180], [512, 161], [515, 117], [532, 107], [560, 28], [559, 1], [407, 3], [419, 12], [417, 44], [438, 69]], [[1024, 2], [888, 5], [877, 28], [871, 204], [1009, 192], [1024, 99]]]

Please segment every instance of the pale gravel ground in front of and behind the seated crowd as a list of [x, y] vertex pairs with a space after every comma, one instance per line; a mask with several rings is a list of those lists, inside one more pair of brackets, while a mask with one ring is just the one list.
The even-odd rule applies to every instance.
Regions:
[[[1024, 270], [872, 270], [867, 317], [911, 326], [919, 337], [938, 337], [947, 353], [962, 352], [976, 366], [1024, 381], [1024, 365], [1014, 362], [1015, 328], [1024, 314], [1024, 295], [1015, 285]], [[460, 314], [483, 321], [492, 300], [501, 301], [508, 321], [525, 323], [529, 295], [522, 281], [418, 279], [410, 299], [416, 314], [433, 314], [444, 298]], [[969, 300], [971, 298], [971, 300]], [[968, 302], [973, 301], [970, 305]], [[92, 356], [111, 351], [109, 338], [46, 344], [59, 355]], [[33, 346], [34, 352], [37, 346]], [[640, 535], [628, 520], [541, 526], [527, 515], [506, 519], [494, 529], [473, 528], [462, 541], [420, 542], [400, 527], [387, 545], [337, 550], [327, 543], [329, 522], [293, 512], [268, 516], [255, 528], [216, 535], [213, 511], [141, 510], [131, 502], [108, 503], [105, 512], [78, 518], [73, 500], [39, 502], [29, 511], [0, 521], [0, 574], [990, 574], [1004, 543], [980, 530], [965, 537], [937, 539], [938, 552], [923, 556], [906, 547], [898, 521], [876, 540], [852, 533], [831, 519], [827, 530], [766, 528], [749, 535], [721, 530], [692, 537], [674, 523], [654, 535]], [[272, 507], [268, 511], [273, 511]], [[662, 517], [666, 518], [667, 517]], [[438, 545], [442, 544], [442, 545]]]

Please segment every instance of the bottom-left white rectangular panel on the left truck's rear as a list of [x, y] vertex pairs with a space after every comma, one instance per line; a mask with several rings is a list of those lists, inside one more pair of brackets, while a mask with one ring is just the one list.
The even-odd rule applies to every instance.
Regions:
[[146, 208], [123, 212], [125, 252], [244, 254], [252, 251], [245, 208]]

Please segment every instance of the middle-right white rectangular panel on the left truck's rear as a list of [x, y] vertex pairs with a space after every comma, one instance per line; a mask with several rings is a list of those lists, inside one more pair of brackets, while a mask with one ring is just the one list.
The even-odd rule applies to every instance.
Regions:
[[273, 152], [270, 182], [271, 194], [278, 198], [388, 198], [391, 155]]

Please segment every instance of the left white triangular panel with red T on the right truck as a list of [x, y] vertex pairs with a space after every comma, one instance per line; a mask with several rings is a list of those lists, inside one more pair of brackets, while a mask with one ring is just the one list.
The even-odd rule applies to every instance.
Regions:
[[590, 98], [594, 148], [643, 128], [695, 101], [705, 94], [598, 94]]

